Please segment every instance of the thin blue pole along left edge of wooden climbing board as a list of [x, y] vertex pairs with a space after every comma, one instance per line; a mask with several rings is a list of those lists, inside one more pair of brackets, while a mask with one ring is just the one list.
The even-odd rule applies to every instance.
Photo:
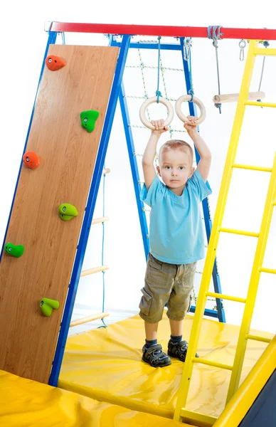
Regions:
[[[29, 122], [29, 125], [28, 125], [28, 132], [27, 132], [26, 141], [25, 141], [24, 148], [23, 148], [23, 154], [26, 152], [26, 146], [28, 144], [28, 136], [30, 135], [31, 125], [32, 125], [32, 122], [33, 122], [33, 114], [34, 114], [34, 110], [36, 108], [36, 98], [38, 96], [39, 86], [41, 85], [41, 78], [42, 78], [42, 75], [43, 75], [45, 60], [46, 60], [46, 58], [48, 56], [48, 49], [49, 49], [49, 46], [51, 44], [55, 44], [55, 40], [56, 40], [57, 35], [58, 35], [58, 33], [56, 33], [56, 32], [49, 32], [48, 33], [48, 41], [47, 41], [47, 44], [46, 44], [46, 50], [45, 50], [45, 53], [44, 53], [43, 63], [42, 63], [42, 67], [41, 67], [41, 74], [40, 74], [39, 80], [38, 80], [38, 87], [36, 89], [36, 97], [35, 97], [35, 100], [33, 102], [33, 110], [31, 112], [31, 119], [30, 119], [30, 122]], [[22, 154], [22, 157], [23, 157], [23, 154]], [[10, 213], [9, 213], [9, 219], [8, 219], [8, 223], [6, 225], [6, 232], [5, 232], [5, 236], [4, 236], [4, 241], [2, 243], [2, 248], [1, 248], [1, 253], [0, 253], [0, 262], [1, 262], [1, 258], [2, 258], [2, 255], [3, 255], [3, 250], [4, 250], [4, 246], [5, 246], [5, 242], [6, 242], [6, 235], [8, 233], [8, 229], [9, 229], [9, 223], [11, 221], [11, 212], [12, 212], [12, 210], [14, 208], [14, 200], [16, 198], [16, 191], [17, 191], [18, 182], [19, 182], [19, 178], [20, 178], [20, 174], [21, 174], [22, 163], [23, 163], [22, 157], [21, 157], [21, 163], [20, 163], [19, 172], [18, 172], [18, 176], [17, 176], [16, 186], [15, 186], [15, 189], [14, 189], [14, 197], [13, 197], [12, 202], [11, 202], [11, 210], [10, 210]]]

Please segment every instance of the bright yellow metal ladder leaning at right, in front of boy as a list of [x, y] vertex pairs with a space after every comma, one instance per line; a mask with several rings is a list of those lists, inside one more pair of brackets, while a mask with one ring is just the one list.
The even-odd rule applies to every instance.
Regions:
[[[177, 421], [194, 421], [198, 426], [212, 426], [216, 421], [216, 417], [206, 416], [202, 413], [196, 413], [188, 411], [185, 408], [189, 385], [191, 383], [191, 374], [193, 371], [194, 363], [201, 363], [210, 365], [212, 367], [218, 367], [221, 369], [228, 369], [232, 372], [230, 378], [230, 384], [228, 389], [228, 396], [226, 402], [233, 396], [235, 391], [238, 389], [240, 382], [240, 374], [243, 368], [243, 360], [245, 357], [245, 349], [248, 339], [255, 339], [261, 342], [270, 342], [270, 339], [258, 337], [250, 334], [250, 324], [253, 317], [253, 310], [255, 305], [255, 299], [258, 292], [258, 285], [260, 281], [260, 273], [273, 273], [276, 274], [276, 270], [271, 268], [263, 268], [262, 262], [265, 255], [265, 248], [267, 245], [267, 238], [270, 230], [270, 223], [272, 219], [273, 206], [275, 206], [276, 199], [276, 154], [272, 168], [267, 167], [256, 167], [245, 164], [235, 164], [235, 154], [238, 148], [238, 141], [240, 137], [240, 130], [243, 124], [243, 116], [245, 113], [246, 105], [256, 105], [258, 107], [276, 107], [276, 104], [270, 102], [251, 102], [248, 101], [248, 93], [250, 88], [250, 81], [253, 74], [253, 66], [257, 55], [260, 56], [276, 56], [276, 49], [258, 48], [258, 41], [250, 41], [248, 49], [248, 57], [245, 63], [245, 70], [243, 73], [243, 81], [240, 88], [240, 96], [238, 98], [237, 110], [235, 112], [235, 120], [233, 123], [233, 130], [230, 137], [230, 144], [228, 148], [228, 154], [225, 161], [225, 169], [223, 172], [223, 178], [221, 181], [221, 189], [218, 196], [218, 204], [216, 207], [216, 214], [213, 219], [213, 228], [208, 244], [208, 251], [206, 255], [206, 262], [203, 269], [203, 275], [201, 280], [201, 288], [198, 292], [198, 300], [196, 304], [196, 312], [193, 318], [193, 326], [191, 329], [191, 337], [189, 342], [189, 349], [186, 355], [186, 362], [184, 364], [184, 371], [181, 377], [181, 384], [179, 386], [179, 394], [176, 402], [176, 410], [174, 413], [174, 419]], [[260, 226], [260, 233], [253, 233], [251, 231], [234, 230], [231, 228], [223, 228], [223, 214], [225, 211], [225, 204], [228, 197], [228, 191], [230, 187], [230, 180], [233, 169], [250, 169], [254, 171], [270, 172], [270, 184], [267, 190], [267, 199], [265, 201], [265, 209], [263, 211], [262, 223]], [[233, 297], [230, 295], [222, 295], [215, 292], [208, 292], [209, 284], [211, 281], [211, 275], [213, 270], [213, 263], [216, 258], [216, 248], [218, 246], [218, 238], [220, 233], [235, 233], [243, 236], [252, 236], [258, 238], [258, 244], [255, 252], [255, 259], [253, 263], [253, 270], [250, 277], [250, 283], [248, 288], [248, 295], [245, 298]], [[207, 359], [196, 358], [196, 349], [198, 346], [198, 339], [201, 332], [201, 325], [203, 322], [203, 314], [206, 305], [207, 297], [216, 297], [223, 300], [230, 300], [236, 302], [243, 302], [245, 304], [245, 310], [243, 314], [243, 320], [240, 326], [240, 334], [238, 337], [238, 344], [235, 352], [235, 359], [233, 366], [212, 362]]]

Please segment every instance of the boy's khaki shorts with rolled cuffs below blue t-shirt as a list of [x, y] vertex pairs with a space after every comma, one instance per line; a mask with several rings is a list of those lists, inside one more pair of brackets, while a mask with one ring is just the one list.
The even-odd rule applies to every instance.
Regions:
[[176, 265], [156, 260], [149, 253], [139, 315], [149, 323], [162, 319], [167, 304], [166, 315], [171, 320], [183, 320], [191, 307], [191, 292], [196, 273], [196, 263]]

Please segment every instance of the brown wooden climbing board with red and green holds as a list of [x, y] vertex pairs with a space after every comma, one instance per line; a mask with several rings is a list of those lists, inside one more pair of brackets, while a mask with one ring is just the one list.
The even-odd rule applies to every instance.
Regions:
[[[38, 156], [39, 165], [29, 169], [22, 164], [5, 240], [11, 246], [6, 245], [0, 264], [0, 369], [45, 383], [51, 373], [118, 49], [51, 45], [48, 55], [64, 58], [66, 65], [43, 71], [26, 147], [26, 152]], [[49, 65], [55, 68], [55, 64]], [[92, 132], [87, 132], [85, 122], [81, 125], [80, 113], [86, 110], [100, 112]], [[29, 157], [28, 166], [35, 160]], [[62, 221], [58, 212], [62, 204], [75, 206], [78, 216], [69, 206], [72, 218]], [[19, 258], [11, 255], [16, 254], [13, 245], [24, 247]], [[50, 317], [41, 312], [44, 297], [60, 304]]]

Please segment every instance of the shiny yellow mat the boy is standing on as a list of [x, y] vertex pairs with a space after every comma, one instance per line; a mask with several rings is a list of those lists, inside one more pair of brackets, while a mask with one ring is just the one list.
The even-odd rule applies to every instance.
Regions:
[[[193, 317], [184, 320], [184, 338], [189, 339]], [[215, 320], [203, 320], [198, 354], [224, 364], [233, 364], [239, 327]], [[252, 331], [272, 338], [272, 334]], [[159, 342], [166, 351], [169, 320], [159, 324]], [[164, 368], [152, 368], [141, 361], [144, 322], [139, 315], [68, 338], [58, 386], [98, 401], [136, 411], [172, 418], [183, 363], [173, 359]], [[248, 342], [242, 380], [259, 359], [267, 344]], [[193, 369], [186, 409], [219, 416], [225, 406], [230, 372], [196, 364]]]

